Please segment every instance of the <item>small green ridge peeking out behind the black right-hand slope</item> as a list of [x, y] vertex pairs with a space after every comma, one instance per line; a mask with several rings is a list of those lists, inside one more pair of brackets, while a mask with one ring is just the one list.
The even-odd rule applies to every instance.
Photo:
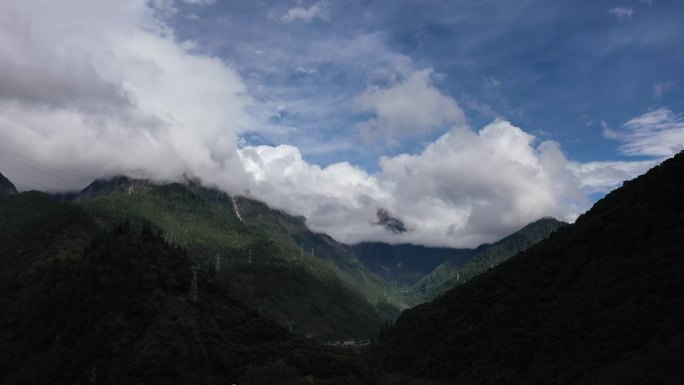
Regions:
[[526, 250], [565, 225], [567, 223], [550, 217], [532, 222], [496, 243], [479, 246], [465, 264], [453, 260], [441, 263], [416, 283], [414, 289], [425, 292], [432, 299]]

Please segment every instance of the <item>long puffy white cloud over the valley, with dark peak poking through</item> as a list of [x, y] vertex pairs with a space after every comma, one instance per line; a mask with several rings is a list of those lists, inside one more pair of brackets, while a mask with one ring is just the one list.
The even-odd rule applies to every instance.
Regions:
[[[540, 217], [572, 220], [588, 202], [555, 142], [502, 120], [454, 128], [416, 155], [384, 157], [369, 174], [348, 163], [307, 163], [292, 146], [240, 151], [253, 196], [301, 213], [345, 242], [476, 246]], [[377, 226], [378, 208], [410, 231]]]

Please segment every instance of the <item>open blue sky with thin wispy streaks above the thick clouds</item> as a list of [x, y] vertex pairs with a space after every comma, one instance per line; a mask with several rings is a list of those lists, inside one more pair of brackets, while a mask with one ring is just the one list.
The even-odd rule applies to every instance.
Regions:
[[[283, 19], [290, 9], [317, 6], [321, 14], [310, 19]], [[627, 159], [601, 122], [619, 127], [660, 107], [684, 111], [683, 7], [657, 0], [218, 1], [183, 5], [171, 23], [198, 50], [233, 63], [252, 95], [273, 104], [259, 111], [274, 115], [268, 123], [298, 128], [246, 135], [247, 143], [289, 143], [318, 164], [351, 160], [373, 170], [378, 155], [420, 151], [449, 129], [394, 146], [359, 138], [356, 124], [367, 116], [354, 98], [401, 76], [401, 65], [432, 68], [435, 87], [473, 127], [498, 116], [561, 143], [573, 160]]]

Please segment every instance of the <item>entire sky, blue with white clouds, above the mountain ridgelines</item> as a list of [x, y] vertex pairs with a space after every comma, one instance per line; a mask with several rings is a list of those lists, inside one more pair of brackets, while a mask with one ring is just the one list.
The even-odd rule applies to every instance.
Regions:
[[199, 178], [355, 243], [574, 221], [684, 149], [684, 3], [2, 0], [0, 172]]

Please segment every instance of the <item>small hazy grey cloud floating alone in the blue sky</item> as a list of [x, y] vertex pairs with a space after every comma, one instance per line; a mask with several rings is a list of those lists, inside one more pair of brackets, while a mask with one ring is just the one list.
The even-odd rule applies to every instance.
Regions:
[[390, 87], [372, 86], [359, 95], [359, 110], [375, 114], [360, 125], [362, 135], [391, 141], [446, 125], [463, 125], [463, 110], [434, 87], [431, 74], [432, 69], [415, 71]]

